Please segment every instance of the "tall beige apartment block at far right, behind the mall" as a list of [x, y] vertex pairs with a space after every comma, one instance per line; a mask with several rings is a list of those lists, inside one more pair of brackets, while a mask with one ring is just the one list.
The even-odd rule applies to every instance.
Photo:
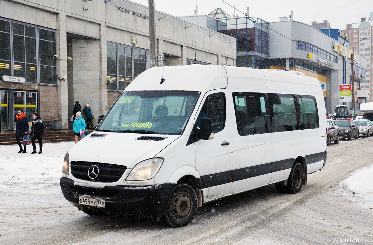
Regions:
[[[347, 24], [345, 33], [351, 36], [351, 48], [366, 58], [364, 68], [366, 69], [365, 81], [361, 83], [361, 89], [369, 91], [366, 102], [373, 101], [373, 11], [367, 18], [361, 18], [361, 22]], [[367, 39], [364, 39], [367, 38]], [[358, 43], [357, 43], [358, 42]], [[361, 102], [361, 101], [359, 101]]]

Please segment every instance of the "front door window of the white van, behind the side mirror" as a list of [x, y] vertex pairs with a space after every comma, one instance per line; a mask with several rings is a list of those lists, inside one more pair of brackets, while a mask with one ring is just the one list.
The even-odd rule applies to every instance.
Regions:
[[207, 96], [197, 120], [201, 121], [201, 118], [211, 118], [214, 133], [223, 130], [225, 125], [224, 93], [213, 93]]

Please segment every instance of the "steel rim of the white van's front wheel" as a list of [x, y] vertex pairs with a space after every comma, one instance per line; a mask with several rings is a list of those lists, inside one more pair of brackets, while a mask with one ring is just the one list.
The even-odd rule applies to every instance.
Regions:
[[187, 219], [192, 212], [192, 203], [192, 197], [188, 192], [179, 192], [171, 201], [172, 216], [179, 221]]

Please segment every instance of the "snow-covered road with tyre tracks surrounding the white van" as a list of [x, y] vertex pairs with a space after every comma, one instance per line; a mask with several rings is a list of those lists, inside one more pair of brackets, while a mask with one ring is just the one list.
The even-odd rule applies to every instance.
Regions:
[[[271, 185], [223, 198], [176, 229], [147, 219], [90, 217], [73, 207], [59, 187], [72, 144], [45, 144], [43, 156], [0, 147], [0, 244], [373, 244], [373, 209], [338, 190], [349, 173], [372, 165], [373, 137], [328, 147], [325, 168], [308, 175], [298, 194]], [[21, 174], [13, 175], [18, 168]]]

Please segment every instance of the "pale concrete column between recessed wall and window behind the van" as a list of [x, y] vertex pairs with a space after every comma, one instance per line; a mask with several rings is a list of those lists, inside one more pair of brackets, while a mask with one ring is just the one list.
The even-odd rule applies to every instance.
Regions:
[[[100, 53], [98, 67], [101, 70], [99, 73], [99, 108], [100, 114], [105, 115], [107, 108], [107, 38], [106, 38], [106, 26], [100, 25], [100, 43], [99, 43]], [[95, 116], [98, 119], [98, 115]]]

